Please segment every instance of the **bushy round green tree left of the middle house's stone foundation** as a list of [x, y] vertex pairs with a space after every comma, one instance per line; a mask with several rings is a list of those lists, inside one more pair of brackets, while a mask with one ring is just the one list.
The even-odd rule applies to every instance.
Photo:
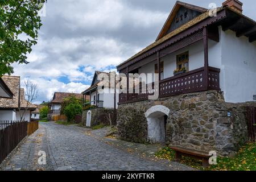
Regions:
[[64, 109], [64, 114], [68, 118], [68, 122], [72, 122], [75, 119], [77, 114], [82, 113], [82, 105], [81, 104], [69, 104]]

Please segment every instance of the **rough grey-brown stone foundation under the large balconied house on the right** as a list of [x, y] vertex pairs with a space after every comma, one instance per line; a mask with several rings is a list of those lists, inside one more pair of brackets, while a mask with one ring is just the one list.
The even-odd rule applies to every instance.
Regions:
[[256, 102], [229, 104], [220, 92], [208, 91], [122, 104], [118, 106], [119, 137], [131, 142], [150, 142], [145, 113], [156, 105], [171, 110], [166, 124], [168, 145], [232, 155], [248, 139], [244, 106], [256, 106]]

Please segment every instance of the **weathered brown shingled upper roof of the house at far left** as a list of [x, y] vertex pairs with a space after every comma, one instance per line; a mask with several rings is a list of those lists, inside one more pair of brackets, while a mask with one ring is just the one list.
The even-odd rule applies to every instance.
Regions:
[[2, 76], [2, 80], [13, 93], [13, 98], [0, 98], [0, 108], [18, 109], [19, 108], [19, 76]]

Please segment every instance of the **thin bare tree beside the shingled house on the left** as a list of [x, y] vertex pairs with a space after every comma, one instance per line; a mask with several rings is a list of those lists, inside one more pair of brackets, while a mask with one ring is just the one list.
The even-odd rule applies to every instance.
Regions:
[[32, 102], [38, 98], [38, 86], [34, 84], [30, 80], [24, 81], [25, 86], [25, 96], [27, 97], [26, 100], [20, 98], [20, 105], [19, 105], [19, 113], [20, 113], [20, 121], [23, 120], [24, 114], [32, 105]]

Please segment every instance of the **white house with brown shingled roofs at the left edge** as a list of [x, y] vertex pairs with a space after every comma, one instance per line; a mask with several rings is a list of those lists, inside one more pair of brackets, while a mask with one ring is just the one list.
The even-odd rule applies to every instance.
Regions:
[[[19, 121], [23, 115], [24, 121], [30, 122], [31, 111], [36, 109], [36, 106], [27, 102], [24, 94], [24, 89], [20, 88], [20, 77], [18, 76], [3, 76], [2, 81], [9, 88], [5, 89], [12, 97], [0, 98], [0, 121]], [[1, 86], [2, 87], [2, 86]]]

